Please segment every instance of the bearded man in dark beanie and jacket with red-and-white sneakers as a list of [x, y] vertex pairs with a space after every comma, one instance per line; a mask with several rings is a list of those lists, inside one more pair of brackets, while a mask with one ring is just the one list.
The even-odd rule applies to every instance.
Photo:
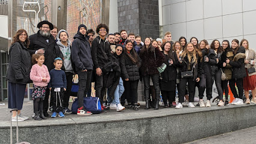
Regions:
[[87, 94], [91, 85], [93, 60], [91, 59], [91, 47], [88, 38], [85, 37], [87, 27], [83, 24], [78, 26], [78, 33], [72, 43], [72, 60], [78, 73], [78, 115], [91, 115], [84, 107], [84, 95]]

